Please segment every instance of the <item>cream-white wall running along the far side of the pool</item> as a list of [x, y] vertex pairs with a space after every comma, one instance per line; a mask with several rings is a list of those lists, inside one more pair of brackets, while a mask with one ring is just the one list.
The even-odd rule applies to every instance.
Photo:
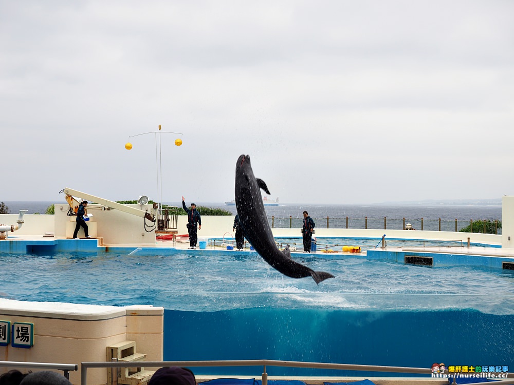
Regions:
[[[139, 205], [131, 205], [139, 208]], [[151, 208], [144, 205], [143, 208]], [[42, 236], [45, 233], [53, 233], [57, 238], [71, 237], [75, 228], [75, 217], [68, 217], [67, 204], [56, 204], [56, 215], [25, 215], [25, 223], [8, 237], [23, 235]], [[93, 214], [90, 223], [91, 235], [102, 237], [103, 244], [155, 244], [155, 231], [146, 232], [143, 218], [123, 213], [119, 210], [89, 210]], [[15, 224], [18, 214], [0, 215], [0, 223]], [[93, 224], [94, 223], [94, 224]], [[147, 221], [148, 223], [148, 221]], [[148, 223], [151, 224], [151, 223]], [[178, 216], [177, 234], [188, 234], [187, 216]], [[203, 216], [201, 229], [198, 229], [198, 238], [226, 238], [234, 236], [232, 225], [234, 216]], [[96, 226], [96, 229], [93, 227]], [[273, 228], [275, 237], [300, 237], [299, 228]], [[71, 234], [70, 234], [71, 233]], [[502, 198], [502, 235], [438, 232], [420, 230], [396, 230], [396, 229], [362, 229], [362, 228], [316, 228], [316, 237], [347, 237], [347, 238], [380, 238], [386, 234], [387, 238], [398, 239], [434, 239], [434, 240], [460, 240], [472, 243], [487, 243], [502, 245], [506, 248], [514, 248], [514, 196]], [[83, 236], [83, 230], [79, 233]], [[510, 240], [509, 240], [510, 237]]]

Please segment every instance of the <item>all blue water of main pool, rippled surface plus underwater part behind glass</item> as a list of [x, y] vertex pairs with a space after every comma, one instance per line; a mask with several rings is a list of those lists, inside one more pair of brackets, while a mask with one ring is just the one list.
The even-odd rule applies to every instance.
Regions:
[[[437, 361], [514, 368], [512, 271], [353, 255], [295, 259], [336, 278], [319, 286], [309, 278], [291, 279], [255, 253], [0, 253], [0, 296], [163, 306], [165, 360], [266, 358], [421, 368]], [[268, 373], [311, 374], [286, 368]]]

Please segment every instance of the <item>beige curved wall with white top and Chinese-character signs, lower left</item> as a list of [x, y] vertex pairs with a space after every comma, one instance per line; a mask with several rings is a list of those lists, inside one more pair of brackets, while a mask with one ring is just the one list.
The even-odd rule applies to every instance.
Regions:
[[[82, 361], [105, 361], [107, 346], [132, 340], [146, 361], [163, 359], [163, 307], [82, 305], [61, 302], [28, 302], [0, 298], [0, 322], [33, 324], [30, 348], [0, 346], [0, 361], [79, 364], [70, 381], [80, 383]], [[10, 338], [12, 340], [12, 335]], [[0, 373], [11, 369], [0, 368]], [[105, 384], [106, 369], [90, 369], [88, 385]]]

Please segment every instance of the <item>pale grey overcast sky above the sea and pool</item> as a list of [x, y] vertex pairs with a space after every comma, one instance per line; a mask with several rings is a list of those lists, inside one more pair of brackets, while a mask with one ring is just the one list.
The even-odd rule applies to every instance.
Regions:
[[[0, 201], [514, 195], [512, 1], [0, 0]], [[180, 138], [183, 144], [174, 145]], [[133, 149], [125, 149], [131, 142]]]

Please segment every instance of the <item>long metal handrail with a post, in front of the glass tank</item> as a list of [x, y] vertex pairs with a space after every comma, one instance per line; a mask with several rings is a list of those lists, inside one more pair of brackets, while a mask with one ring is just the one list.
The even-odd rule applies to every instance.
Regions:
[[[320, 363], [320, 362], [301, 362], [301, 361], [279, 361], [279, 360], [227, 360], [227, 361], [145, 361], [144, 367], [236, 367], [236, 366], [262, 366], [262, 383], [267, 385], [266, 366], [288, 367], [288, 368], [310, 368], [310, 369], [337, 369], [337, 370], [357, 370], [370, 372], [391, 372], [391, 373], [417, 373], [431, 374], [430, 368], [408, 368], [390, 367], [379, 365], [355, 365], [345, 363]], [[88, 368], [126, 368], [127, 362], [81, 362], [81, 385], [87, 385]]]

